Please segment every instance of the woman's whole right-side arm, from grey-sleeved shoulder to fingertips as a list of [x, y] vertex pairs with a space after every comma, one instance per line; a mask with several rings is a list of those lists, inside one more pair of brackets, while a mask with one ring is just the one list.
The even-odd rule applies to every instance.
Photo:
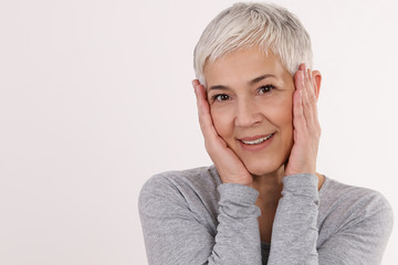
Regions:
[[379, 193], [369, 195], [368, 192], [345, 202], [352, 203], [348, 208], [353, 213], [337, 214], [329, 220], [338, 230], [316, 248], [320, 198], [314, 172], [321, 135], [316, 74], [301, 65], [295, 75], [294, 146], [286, 166], [287, 177], [282, 179], [269, 264], [379, 264], [392, 227], [392, 211]]

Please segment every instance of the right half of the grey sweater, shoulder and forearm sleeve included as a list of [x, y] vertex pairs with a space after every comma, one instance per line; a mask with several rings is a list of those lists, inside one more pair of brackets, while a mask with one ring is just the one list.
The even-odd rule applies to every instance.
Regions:
[[317, 191], [312, 174], [283, 179], [269, 265], [380, 264], [392, 230], [392, 210], [376, 191], [328, 181]]

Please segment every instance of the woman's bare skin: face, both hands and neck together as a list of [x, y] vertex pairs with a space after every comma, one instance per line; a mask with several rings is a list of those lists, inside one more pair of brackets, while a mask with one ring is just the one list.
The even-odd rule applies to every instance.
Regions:
[[[277, 56], [258, 49], [207, 63], [203, 72], [206, 88], [192, 85], [206, 149], [223, 183], [259, 191], [260, 236], [271, 242], [282, 178], [313, 173], [318, 189], [324, 181], [316, 172], [321, 74], [301, 64], [291, 76]], [[265, 136], [269, 144], [244, 144]]]

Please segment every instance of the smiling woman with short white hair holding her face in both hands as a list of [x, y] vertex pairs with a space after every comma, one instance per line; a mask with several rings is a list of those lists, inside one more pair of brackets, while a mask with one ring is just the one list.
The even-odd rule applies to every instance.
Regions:
[[149, 264], [379, 264], [392, 211], [316, 172], [321, 73], [287, 10], [237, 3], [203, 31], [192, 82], [214, 166], [153, 177]]

